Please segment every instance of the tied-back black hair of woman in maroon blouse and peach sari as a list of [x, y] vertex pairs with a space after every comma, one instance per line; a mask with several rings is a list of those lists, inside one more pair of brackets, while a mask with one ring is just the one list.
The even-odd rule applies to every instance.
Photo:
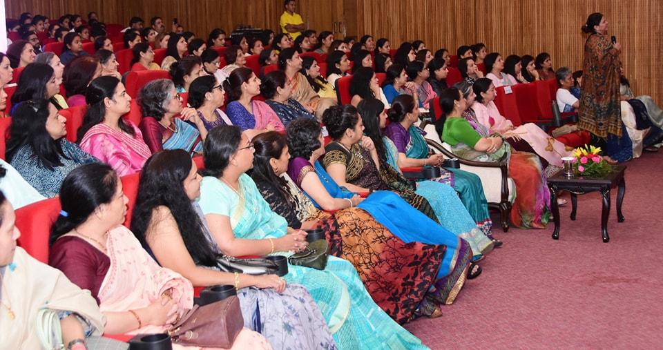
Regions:
[[50, 244], [86, 222], [99, 206], [112, 202], [117, 182], [117, 173], [105, 163], [84, 164], [71, 171], [60, 188], [60, 205], [67, 215], [59, 215], [50, 226]]

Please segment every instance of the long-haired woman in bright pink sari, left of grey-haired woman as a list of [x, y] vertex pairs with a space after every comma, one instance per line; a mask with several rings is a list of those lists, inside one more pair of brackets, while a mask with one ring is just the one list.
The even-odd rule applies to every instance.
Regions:
[[81, 148], [110, 165], [119, 176], [137, 173], [152, 155], [140, 129], [122, 117], [131, 97], [115, 77], [94, 79], [86, 93], [88, 110], [78, 129]]

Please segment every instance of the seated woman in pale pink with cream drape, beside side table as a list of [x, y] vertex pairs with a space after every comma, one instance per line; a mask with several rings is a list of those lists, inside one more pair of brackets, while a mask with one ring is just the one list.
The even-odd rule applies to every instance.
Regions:
[[494, 103], [495, 87], [490, 79], [478, 79], [472, 89], [477, 95], [472, 110], [476, 114], [477, 121], [488, 128], [491, 134], [502, 135], [516, 150], [526, 152], [534, 150], [542, 158], [541, 164], [544, 169], [548, 164], [562, 166], [564, 163], [561, 158], [572, 156], [571, 150], [567, 150], [564, 144], [541, 130], [537, 124], [527, 123], [515, 127], [509, 119], [499, 114]]

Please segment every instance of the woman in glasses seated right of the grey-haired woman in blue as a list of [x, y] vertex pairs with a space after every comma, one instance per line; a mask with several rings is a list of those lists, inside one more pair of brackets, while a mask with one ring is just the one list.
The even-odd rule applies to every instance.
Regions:
[[233, 124], [226, 113], [219, 109], [223, 103], [223, 87], [213, 75], [198, 77], [191, 83], [189, 106], [195, 108], [207, 130], [215, 126]]

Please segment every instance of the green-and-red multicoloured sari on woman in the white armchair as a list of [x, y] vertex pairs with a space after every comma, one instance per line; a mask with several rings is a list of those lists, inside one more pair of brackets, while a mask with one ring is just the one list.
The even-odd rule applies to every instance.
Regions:
[[478, 162], [507, 162], [517, 192], [511, 222], [523, 229], [543, 229], [550, 221], [550, 190], [539, 157], [512, 150], [506, 142], [494, 153], [474, 150], [479, 139], [489, 135], [488, 128], [478, 122], [470, 124], [463, 117], [447, 117], [441, 138], [458, 157]]

